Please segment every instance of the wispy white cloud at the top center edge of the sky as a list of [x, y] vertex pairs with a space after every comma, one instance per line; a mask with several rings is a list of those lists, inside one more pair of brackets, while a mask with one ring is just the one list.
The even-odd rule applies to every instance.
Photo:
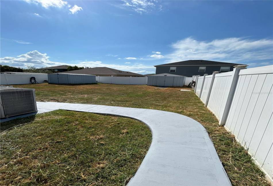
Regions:
[[[123, 4], [124, 7], [133, 9], [134, 11], [140, 14], [152, 11], [156, 7], [155, 3], [157, 3], [157, 1], [149, 1], [149, 0], [132, 0], [132, 1], [123, 0], [123, 1], [124, 1], [124, 4]], [[161, 6], [161, 9], [162, 9], [162, 6]]]

